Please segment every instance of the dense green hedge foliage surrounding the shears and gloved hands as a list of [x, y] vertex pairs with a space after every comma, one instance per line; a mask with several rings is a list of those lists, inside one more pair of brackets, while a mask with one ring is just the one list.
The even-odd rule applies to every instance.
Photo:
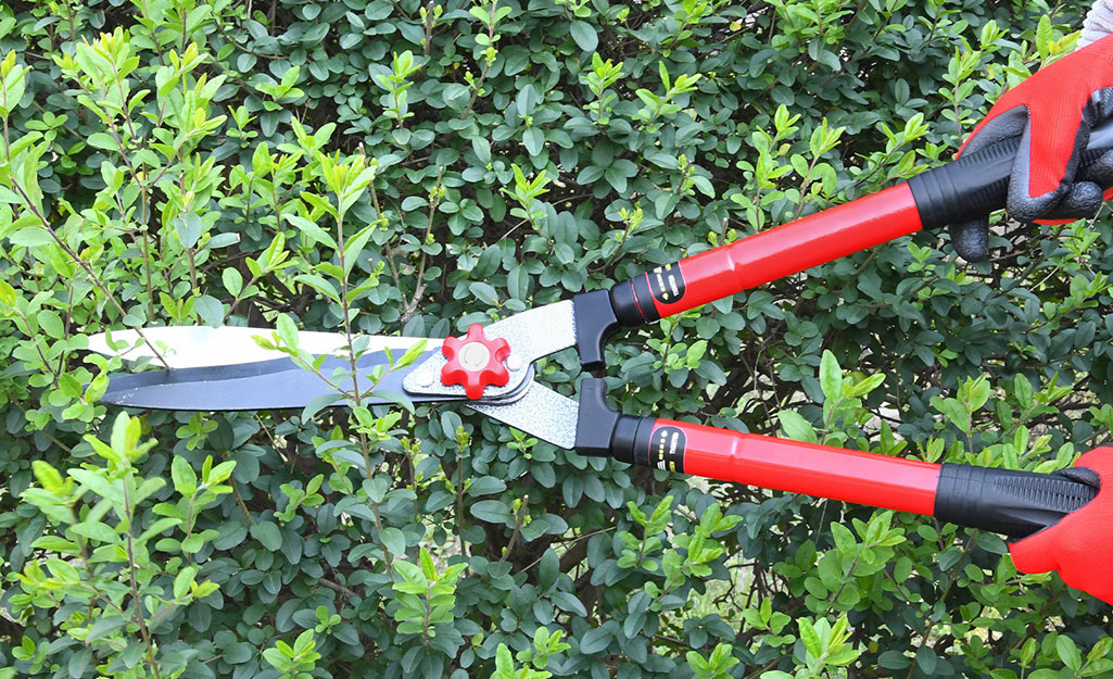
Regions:
[[[951, 157], [1084, 4], [0, 7], [0, 677], [1109, 676], [1109, 607], [996, 535], [447, 407], [117, 420], [119, 363], [82, 352], [279, 313], [444, 336], [609, 285]], [[630, 333], [611, 393], [1065, 466], [1113, 424], [1113, 232], [998, 233], [978, 265], [920, 234]]]

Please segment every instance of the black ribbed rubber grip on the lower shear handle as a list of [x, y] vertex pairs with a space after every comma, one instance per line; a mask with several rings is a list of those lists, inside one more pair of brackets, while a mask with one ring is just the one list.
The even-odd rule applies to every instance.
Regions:
[[946, 463], [935, 516], [1018, 539], [1052, 525], [1096, 494], [1093, 486], [1065, 476]]

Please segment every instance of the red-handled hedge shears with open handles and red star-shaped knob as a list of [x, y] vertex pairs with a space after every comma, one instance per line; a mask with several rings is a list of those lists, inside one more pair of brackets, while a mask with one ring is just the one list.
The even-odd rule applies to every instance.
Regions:
[[[808, 269], [920, 229], [986, 215], [1005, 206], [1017, 140], [926, 170], [906, 183], [782, 226], [659, 266], [610, 289], [575, 295], [462, 337], [370, 337], [361, 342], [356, 380], [381, 377], [386, 396], [366, 404], [456, 403], [560, 447], [637, 465], [766, 489], [935, 516], [940, 521], [1023, 538], [1091, 501], [1096, 490], [1070, 475], [934, 464], [919, 460], [743, 434], [620, 414], [605, 403], [605, 385], [585, 376], [579, 401], [534, 380], [533, 363], [575, 347], [585, 371], [605, 367], [604, 343], [621, 327], [652, 323], [721, 297]], [[1113, 148], [1113, 125], [1095, 129], [1082, 164]], [[305, 407], [333, 387], [285, 354], [257, 344], [270, 329], [148, 327], [125, 357], [166, 348], [170, 370], [115, 374], [102, 403], [180, 411]], [[137, 331], [114, 340], [128, 345]], [[424, 344], [421, 344], [424, 343]], [[116, 355], [105, 335], [90, 348]], [[322, 356], [317, 371], [351, 367], [337, 354], [346, 338], [303, 332], [298, 346]], [[385, 371], [397, 352], [420, 355]], [[385, 372], [385, 376], [383, 376]]]

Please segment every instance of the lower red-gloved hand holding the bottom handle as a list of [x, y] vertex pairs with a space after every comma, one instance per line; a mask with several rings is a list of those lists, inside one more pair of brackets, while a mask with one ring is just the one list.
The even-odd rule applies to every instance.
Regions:
[[[1097, 496], [1053, 525], [1013, 542], [1008, 551], [1022, 573], [1058, 571], [1063, 582], [1113, 603], [1113, 447], [1096, 447], [1056, 472], [1097, 488]], [[1102, 488], [1102, 481], [1110, 481]]]

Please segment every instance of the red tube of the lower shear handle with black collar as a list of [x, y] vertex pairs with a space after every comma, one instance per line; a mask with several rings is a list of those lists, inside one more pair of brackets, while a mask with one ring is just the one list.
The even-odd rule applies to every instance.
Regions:
[[[639, 459], [639, 453], [646, 456]], [[935, 513], [940, 469], [918, 460], [671, 420], [653, 421], [648, 442], [634, 450], [634, 462], [928, 516]]]

